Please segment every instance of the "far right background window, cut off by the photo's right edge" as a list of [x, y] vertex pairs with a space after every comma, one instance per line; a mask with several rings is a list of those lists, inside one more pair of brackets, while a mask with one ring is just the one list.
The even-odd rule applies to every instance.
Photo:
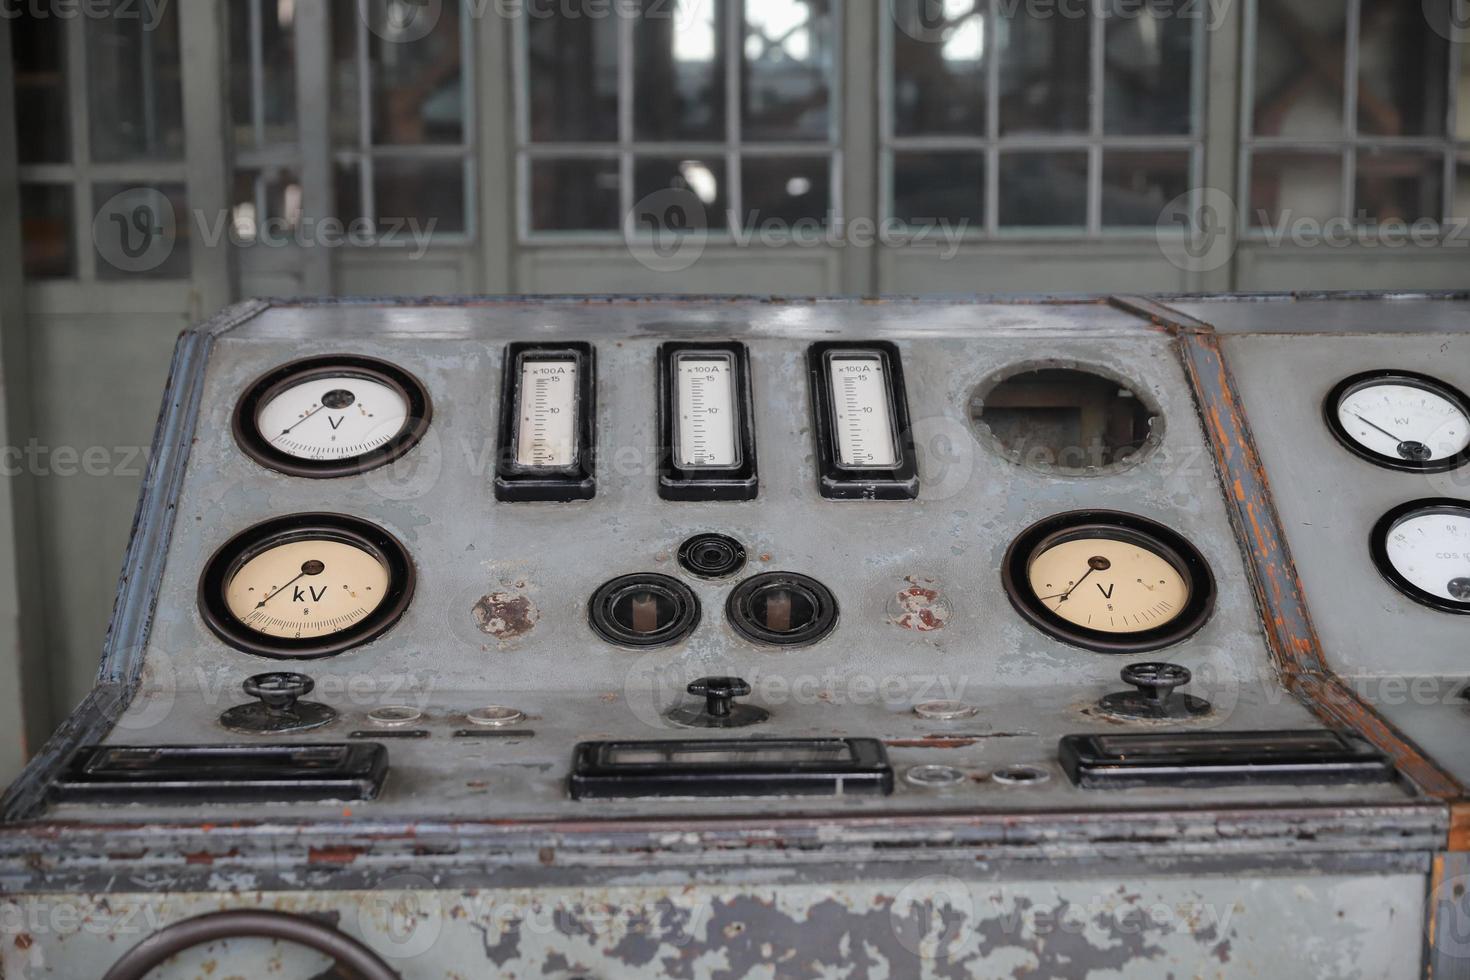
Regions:
[[1464, 212], [1470, 59], [1448, 40], [1454, 1], [1252, 0], [1248, 228]]

